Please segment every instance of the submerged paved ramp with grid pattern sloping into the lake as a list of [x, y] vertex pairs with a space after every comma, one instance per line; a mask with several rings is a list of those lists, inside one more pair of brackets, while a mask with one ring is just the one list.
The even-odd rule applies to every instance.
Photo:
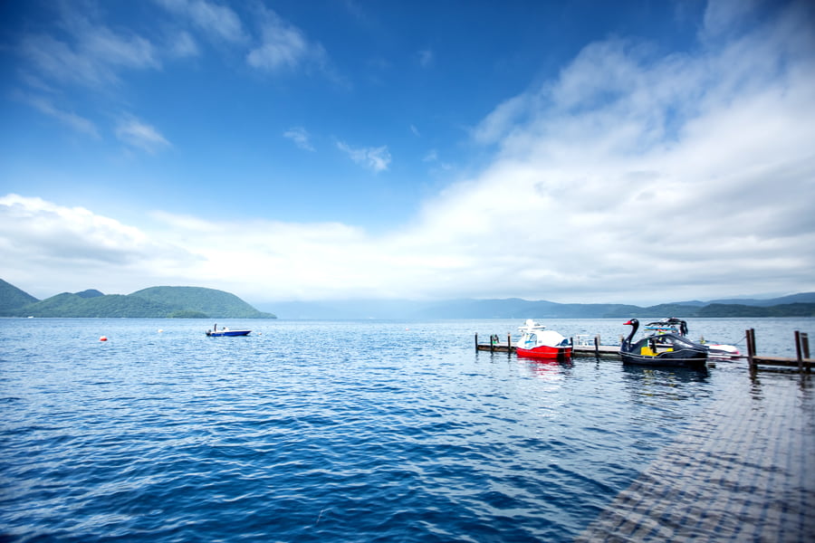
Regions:
[[576, 541], [815, 541], [815, 384], [738, 380]]

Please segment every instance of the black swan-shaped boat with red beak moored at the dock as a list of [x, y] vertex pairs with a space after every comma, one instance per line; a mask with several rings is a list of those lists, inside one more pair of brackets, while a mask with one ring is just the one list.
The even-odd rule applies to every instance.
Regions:
[[630, 319], [625, 324], [631, 326], [631, 333], [619, 348], [619, 356], [624, 364], [706, 367], [708, 348], [704, 345], [694, 343], [681, 334], [667, 331], [649, 334], [635, 342], [634, 335], [639, 329], [639, 320]]

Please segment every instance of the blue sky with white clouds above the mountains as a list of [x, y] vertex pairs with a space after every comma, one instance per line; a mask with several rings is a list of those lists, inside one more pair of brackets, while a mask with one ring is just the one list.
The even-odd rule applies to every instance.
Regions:
[[38, 298], [815, 291], [806, 0], [31, 0], [0, 21], [0, 278]]

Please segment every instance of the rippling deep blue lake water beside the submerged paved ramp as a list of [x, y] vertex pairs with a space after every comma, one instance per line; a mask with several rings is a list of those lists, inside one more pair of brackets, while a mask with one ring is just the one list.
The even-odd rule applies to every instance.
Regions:
[[[0, 540], [570, 540], [719, 391], [750, 387], [744, 362], [475, 352], [475, 333], [520, 320], [218, 322], [246, 338], [206, 338], [203, 320], [3, 323]], [[743, 348], [754, 328], [760, 353], [794, 356], [813, 324], [697, 319], [690, 335]]]

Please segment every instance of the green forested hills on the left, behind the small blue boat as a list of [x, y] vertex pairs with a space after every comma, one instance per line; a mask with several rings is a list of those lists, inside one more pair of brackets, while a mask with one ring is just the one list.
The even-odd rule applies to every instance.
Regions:
[[[0, 280], [2, 281], [2, 280]], [[6, 301], [9, 300], [9, 301]], [[23, 303], [21, 303], [21, 300]], [[128, 295], [62, 292], [45, 300], [0, 284], [3, 317], [99, 317], [129, 319], [275, 319], [235, 294], [199, 287], [152, 287]]]

